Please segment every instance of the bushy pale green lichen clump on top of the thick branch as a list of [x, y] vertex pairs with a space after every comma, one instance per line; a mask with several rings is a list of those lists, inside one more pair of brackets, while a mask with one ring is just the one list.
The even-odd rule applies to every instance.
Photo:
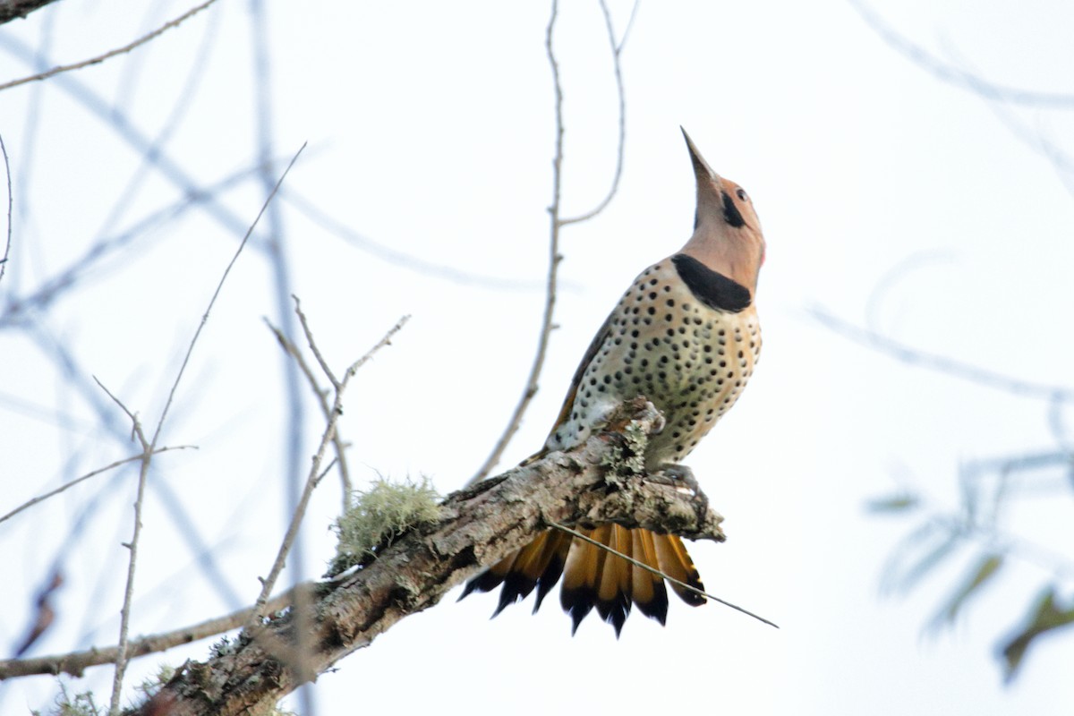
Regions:
[[325, 576], [334, 576], [376, 556], [403, 532], [440, 517], [440, 496], [429, 478], [389, 482], [378, 478], [365, 491], [354, 491], [352, 507], [332, 525], [338, 542]]

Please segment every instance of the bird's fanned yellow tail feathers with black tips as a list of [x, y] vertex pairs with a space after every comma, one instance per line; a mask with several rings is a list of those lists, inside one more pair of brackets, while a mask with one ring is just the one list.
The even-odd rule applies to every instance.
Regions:
[[[595, 542], [695, 589], [705, 588], [685, 545], [674, 535], [656, 535], [648, 529], [626, 529], [619, 525], [601, 525], [581, 531]], [[616, 635], [632, 605], [661, 624], [667, 619], [664, 578], [560, 530], [542, 532], [526, 546], [475, 576], [466, 583], [462, 597], [471, 591], [491, 591], [503, 584], [495, 616], [536, 588], [536, 612], [561, 575], [560, 603], [574, 622], [571, 633], [594, 607], [600, 617], [615, 628]], [[705, 597], [674, 582], [671, 582], [671, 589], [692, 607], [705, 603]]]

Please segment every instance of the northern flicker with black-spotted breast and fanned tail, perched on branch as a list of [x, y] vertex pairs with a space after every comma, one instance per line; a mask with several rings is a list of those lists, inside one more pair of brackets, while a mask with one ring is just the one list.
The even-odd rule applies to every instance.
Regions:
[[[745, 191], [709, 167], [683, 130], [697, 180], [694, 234], [677, 253], [645, 268], [597, 331], [575, 372], [545, 447], [531, 457], [585, 442], [614, 406], [639, 395], [667, 421], [645, 450], [650, 473], [678, 465], [730, 409], [760, 352], [754, 308], [765, 239]], [[677, 469], [680, 468], [680, 469]], [[678, 537], [604, 525], [587, 536], [698, 589], [701, 580]], [[463, 597], [503, 584], [495, 614], [537, 589], [537, 603], [563, 576], [560, 601], [572, 632], [594, 607], [616, 635], [632, 603], [664, 624], [664, 580], [557, 530], [474, 578]], [[700, 595], [671, 583], [691, 605]], [[495, 614], [493, 616], [495, 616]]]

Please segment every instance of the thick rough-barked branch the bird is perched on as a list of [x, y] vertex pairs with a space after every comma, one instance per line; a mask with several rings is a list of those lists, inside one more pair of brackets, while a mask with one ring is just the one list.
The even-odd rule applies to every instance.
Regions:
[[322, 673], [366, 646], [396, 622], [436, 604], [481, 568], [531, 540], [551, 523], [592, 526], [614, 522], [723, 541], [722, 517], [703, 495], [647, 481], [629, 464], [636, 442], [622, 432], [648, 436], [663, 423], [639, 399], [580, 450], [551, 453], [525, 467], [460, 491], [444, 501], [436, 523], [408, 532], [377, 552], [357, 572], [313, 587], [311, 628], [302, 640], [313, 653], [296, 654], [293, 610], [252, 629], [206, 662], [178, 669], [140, 713], [257, 714], [302, 684], [301, 673]]

